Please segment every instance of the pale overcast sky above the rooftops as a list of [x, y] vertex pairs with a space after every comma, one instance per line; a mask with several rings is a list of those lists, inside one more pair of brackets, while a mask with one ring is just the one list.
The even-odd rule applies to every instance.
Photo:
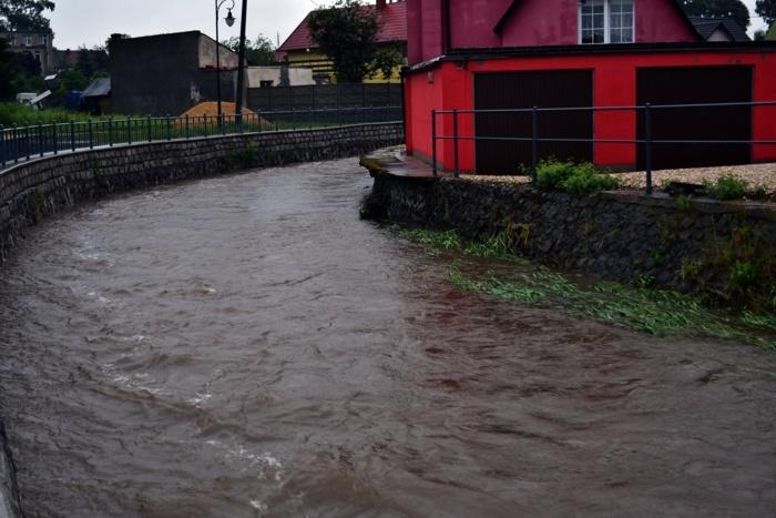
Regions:
[[[236, 0], [242, 3], [241, 0]], [[224, 7], [231, 0], [226, 0]], [[76, 49], [81, 45], [103, 44], [113, 32], [130, 35], [147, 35], [163, 32], [200, 30], [215, 35], [214, 0], [55, 0], [57, 9], [51, 13], [54, 45], [58, 49]], [[247, 35], [253, 39], [263, 33], [280, 42], [302, 21], [316, 3], [328, 0], [248, 0]], [[754, 18], [755, 0], [744, 0], [752, 12], [754, 30], [764, 28], [764, 22]], [[235, 17], [238, 17], [238, 9]], [[226, 10], [222, 13], [226, 16]], [[221, 24], [222, 39], [239, 35], [239, 23], [233, 28]]]

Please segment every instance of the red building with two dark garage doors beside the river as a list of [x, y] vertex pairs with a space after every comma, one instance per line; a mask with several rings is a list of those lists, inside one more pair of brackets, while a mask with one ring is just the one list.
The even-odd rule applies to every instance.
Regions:
[[[623, 141], [644, 140], [646, 115], [629, 106], [776, 101], [776, 44], [707, 43], [673, 0], [408, 0], [407, 27], [407, 149], [430, 160], [432, 110], [462, 111], [437, 115], [447, 170], [530, 164], [530, 141], [499, 139], [530, 139], [533, 106], [542, 110], [540, 156], [636, 169], [644, 145]], [[578, 110], [543, 111], [558, 108]], [[774, 105], [655, 108], [650, 116], [656, 167], [776, 160], [773, 144], [714, 143], [776, 141]]]

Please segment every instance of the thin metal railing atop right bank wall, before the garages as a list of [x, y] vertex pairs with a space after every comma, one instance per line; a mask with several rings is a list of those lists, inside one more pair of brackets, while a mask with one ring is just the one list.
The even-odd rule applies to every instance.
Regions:
[[[496, 109], [496, 110], [432, 110], [431, 111], [431, 142], [432, 142], [432, 156], [431, 156], [431, 167], [433, 175], [439, 174], [439, 156], [438, 156], [438, 141], [452, 141], [453, 145], [453, 176], [458, 177], [460, 174], [460, 143], [461, 141], [503, 141], [503, 142], [531, 142], [531, 181], [535, 183], [537, 181], [537, 169], [539, 165], [539, 144], [542, 142], [565, 142], [565, 143], [590, 143], [590, 144], [622, 144], [622, 145], [641, 145], [644, 152], [644, 173], [646, 180], [646, 193], [653, 193], [653, 156], [654, 148], [656, 145], [695, 145], [695, 144], [749, 144], [749, 145], [776, 145], [776, 140], [703, 140], [703, 139], [655, 139], [653, 131], [653, 118], [655, 112], [661, 110], [677, 110], [677, 109], [715, 109], [715, 108], [741, 108], [748, 106], [752, 110], [759, 106], [774, 106], [776, 108], [776, 101], [764, 101], [764, 102], [726, 102], [726, 103], [693, 103], [693, 104], [651, 104], [645, 103], [642, 105], [633, 106], [585, 106], [585, 108], [520, 108], [520, 109]], [[591, 112], [593, 115], [596, 112], [643, 112], [643, 138], [622, 138], [622, 139], [607, 139], [607, 138], [596, 138], [593, 134], [591, 139], [578, 139], [578, 138], [542, 138], [539, 130], [540, 118], [542, 113], [554, 112]], [[461, 135], [459, 132], [460, 123], [459, 119], [461, 115], [478, 115], [478, 114], [530, 114], [531, 115], [531, 134], [524, 136], [482, 136], [478, 135], [474, 130], [472, 135]], [[440, 116], [452, 116], [452, 134], [446, 135], [440, 134], [438, 129], [438, 118]], [[776, 136], [776, 114], [774, 114], [772, 121], [774, 121], [774, 126], [770, 131], [772, 134]], [[476, 126], [476, 124], [474, 124]], [[593, 125], [595, 128], [595, 125]], [[637, 128], [632, 128], [633, 133], [639, 134]]]

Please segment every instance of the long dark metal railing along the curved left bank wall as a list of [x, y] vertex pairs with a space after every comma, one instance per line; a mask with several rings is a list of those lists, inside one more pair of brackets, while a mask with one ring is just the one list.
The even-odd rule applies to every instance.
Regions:
[[0, 125], [0, 171], [63, 152], [116, 145], [401, 122], [401, 106], [287, 110], [237, 115], [118, 118], [65, 123]]

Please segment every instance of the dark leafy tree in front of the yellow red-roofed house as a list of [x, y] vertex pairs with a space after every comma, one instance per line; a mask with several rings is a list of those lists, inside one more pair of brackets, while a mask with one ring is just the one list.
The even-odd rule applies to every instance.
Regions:
[[360, 0], [336, 0], [321, 7], [307, 21], [310, 37], [334, 63], [339, 82], [358, 83], [381, 72], [390, 77], [401, 63], [401, 53], [392, 45], [380, 47], [377, 12]]

